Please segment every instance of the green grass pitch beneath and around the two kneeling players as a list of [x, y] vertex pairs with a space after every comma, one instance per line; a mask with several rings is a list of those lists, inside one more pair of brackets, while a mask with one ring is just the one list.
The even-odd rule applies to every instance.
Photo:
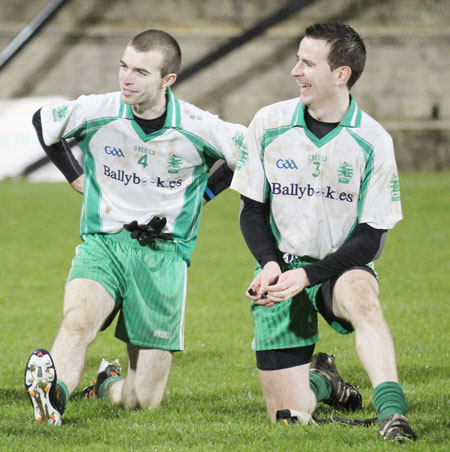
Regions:
[[[250, 344], [244, 291], [252, 258], [238, 228], [238, 197], [228, 191], [204, 210], [189, 273], [186, 350], [177, 353], [163, 405], [126, 411], [74, 394], [64, 425], [32, 421], [23, 390], [31, 351], [50, 347], [61, 319], [63, 287], [79, 243], [81, 198], [66, 184], [0, 182], [0, 451], [446, 451], [449, 441], [450, 174], [401, 177], [404, 221], [389, 233], [377, 263], [408, 416], [419, 441], [390, 444], [368, 429], [286, 427], [267, 420]], [[371, 388], [352, 337], [320, 324], [319, 351], [335, 353], [343, 377], [365, 400]], [[80, 388], [100, 359], [120, 358], [113, 328], [89, 349]], [[318, 415], [330, 411], [320, 408]]]

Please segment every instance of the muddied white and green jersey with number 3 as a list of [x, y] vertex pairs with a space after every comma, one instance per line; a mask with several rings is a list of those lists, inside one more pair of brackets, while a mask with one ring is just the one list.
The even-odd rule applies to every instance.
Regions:
[[270, 226], [280, 251], [322, 259], [358, 223], [390, 229], [401, 220], [390, 135], [354, 99], [322, 139], [308, 130], [297, 99], [261, 109], [251, 122], [231, 188], [270, 200]]

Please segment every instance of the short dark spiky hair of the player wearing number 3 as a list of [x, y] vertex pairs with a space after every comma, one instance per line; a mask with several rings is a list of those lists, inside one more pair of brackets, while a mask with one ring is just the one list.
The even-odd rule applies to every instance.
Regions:
[[348, 66], [352, 70], [347, 82], [348, 89], [351, 89], [366, 64], [366, 46], [361, 36], [349, 25], [338, 23], [311, 25], [306, 29], [305, 36], [328, 43], [328, 64], [332, 71], [341, 66]]

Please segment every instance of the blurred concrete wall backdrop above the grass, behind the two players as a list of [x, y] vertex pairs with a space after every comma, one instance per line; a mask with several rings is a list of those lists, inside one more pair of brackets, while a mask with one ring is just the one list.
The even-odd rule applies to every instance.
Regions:
[[299, 39], [330, 21], [366, 42], [353, 92], [393, 135], [400, 170], [449, 169], [448, 0], [0, 0], [0, 179], [60, 180], [31, 115], [55, 99], [118, 90], [119, 59], [140, 31], [180, 43], [178, 97], [248, 125], [262, 106], [298, 95], [289, 73]]

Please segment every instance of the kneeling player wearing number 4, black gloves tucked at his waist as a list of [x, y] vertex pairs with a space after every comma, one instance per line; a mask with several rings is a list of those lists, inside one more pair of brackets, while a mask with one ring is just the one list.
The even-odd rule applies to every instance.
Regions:
[[[120, 92], [81, 96], [34, 115], [43, 148], [84, 198], [83, 243], [61, 326], [51, 353], [35, 350], [25, 371], [38, 421], [61, 424], [87, 348], [117, 312], [128, 373], [121, 378], [120, 365], [103, 360], [89, 398], [158, 406], [172, 353], [183, 350], [186, 270], [208, 173], [217, 160], [234, 169], [246, 129], [175, 97], [170, 87], [180, 62], [172, 36], [147, 30], [120, 60]], [[84, 168], [67, 146], [72, 138]]]

